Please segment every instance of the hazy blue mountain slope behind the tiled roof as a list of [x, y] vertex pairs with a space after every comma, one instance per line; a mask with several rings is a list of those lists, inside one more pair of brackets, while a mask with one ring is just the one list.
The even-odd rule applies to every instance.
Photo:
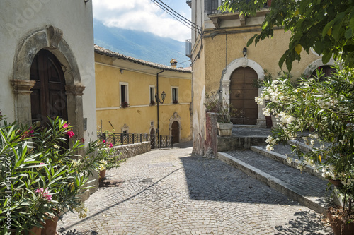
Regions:
[[[171, 59], [178, 61], [178, 67], [188, 67], [190, 60], [185, 56], [185, 42], [159, 37], [150, 32], [107, 27], [93, 19], [95, 44], [135, 59], [170, 66]], [[180, 64], [184, 61], [183, 64]]]

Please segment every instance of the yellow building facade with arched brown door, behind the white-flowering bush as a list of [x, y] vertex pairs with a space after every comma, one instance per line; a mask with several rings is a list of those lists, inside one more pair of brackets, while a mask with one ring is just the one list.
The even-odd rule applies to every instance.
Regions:
[[[232, 119], [236, 125], [266, 126], [263, 105], [257, 105], [254, 97], [261, 94], [257, 83], [263, 80], [265, 71], [276, 78], [280, 71], [278, 61], [289, 45], [290, 32], [275, 28], [274, 37], [255, 46], [246, 46], [253, 35], [261, 32], [266, 6], [256, 16], [239, 16], [239, 12], [221, 12], [222, 0], [187, 1], [192, 8], [192, 21], [199, 30], [192, 30], [190, 58], [193, 71], [193, 151], [204, 155], [207, 143], [205, 95], [217, 92], [220, 99], [231, 103], [239, 111]], [[270, 1], [269, 1], [270, 4]], [[333, 59], [323, 64], [321, 56], [302, 50], [301, 61], [292, 64], [293, 78], [312, 74], [316, 68], [330, 68]]]

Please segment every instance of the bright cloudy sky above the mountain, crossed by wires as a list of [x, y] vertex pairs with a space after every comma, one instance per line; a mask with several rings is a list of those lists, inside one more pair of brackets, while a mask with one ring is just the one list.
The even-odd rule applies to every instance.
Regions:
[[[188, 20], [190, 7], [185, 0], [161, 0]], [[190, 28], [156, 6], [152, 0], [93, 0], [93, 18], [108, 27], [152, 32], [184, 42], [190, 38]]]

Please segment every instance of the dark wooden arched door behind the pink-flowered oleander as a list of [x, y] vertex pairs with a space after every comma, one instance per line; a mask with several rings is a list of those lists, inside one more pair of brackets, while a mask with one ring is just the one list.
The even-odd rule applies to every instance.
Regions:
[[46, 123], [47, 116], [67, 120], [67, 95], [62, 66], [54, 54], [41, 49], [30, 67], [30, 80], [35, 80], [30, 95], [32, 122]]

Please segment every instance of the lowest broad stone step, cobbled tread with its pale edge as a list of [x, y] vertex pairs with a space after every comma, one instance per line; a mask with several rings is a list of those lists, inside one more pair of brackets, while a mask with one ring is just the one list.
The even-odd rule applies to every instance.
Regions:
[[234, 150], [217, 154], [222, 161], [284, 193], [289, 198], [297, 200], [300, 204], [319, 213], [326, 212], [326, 208], [329, 207], [326, 199], [331, 195], [331, 190], [326, 191], [327, 181], [282, 164], [284, 158], [280, 154], [273, 156], [282, 160], [278, 162], [251, 150]]

